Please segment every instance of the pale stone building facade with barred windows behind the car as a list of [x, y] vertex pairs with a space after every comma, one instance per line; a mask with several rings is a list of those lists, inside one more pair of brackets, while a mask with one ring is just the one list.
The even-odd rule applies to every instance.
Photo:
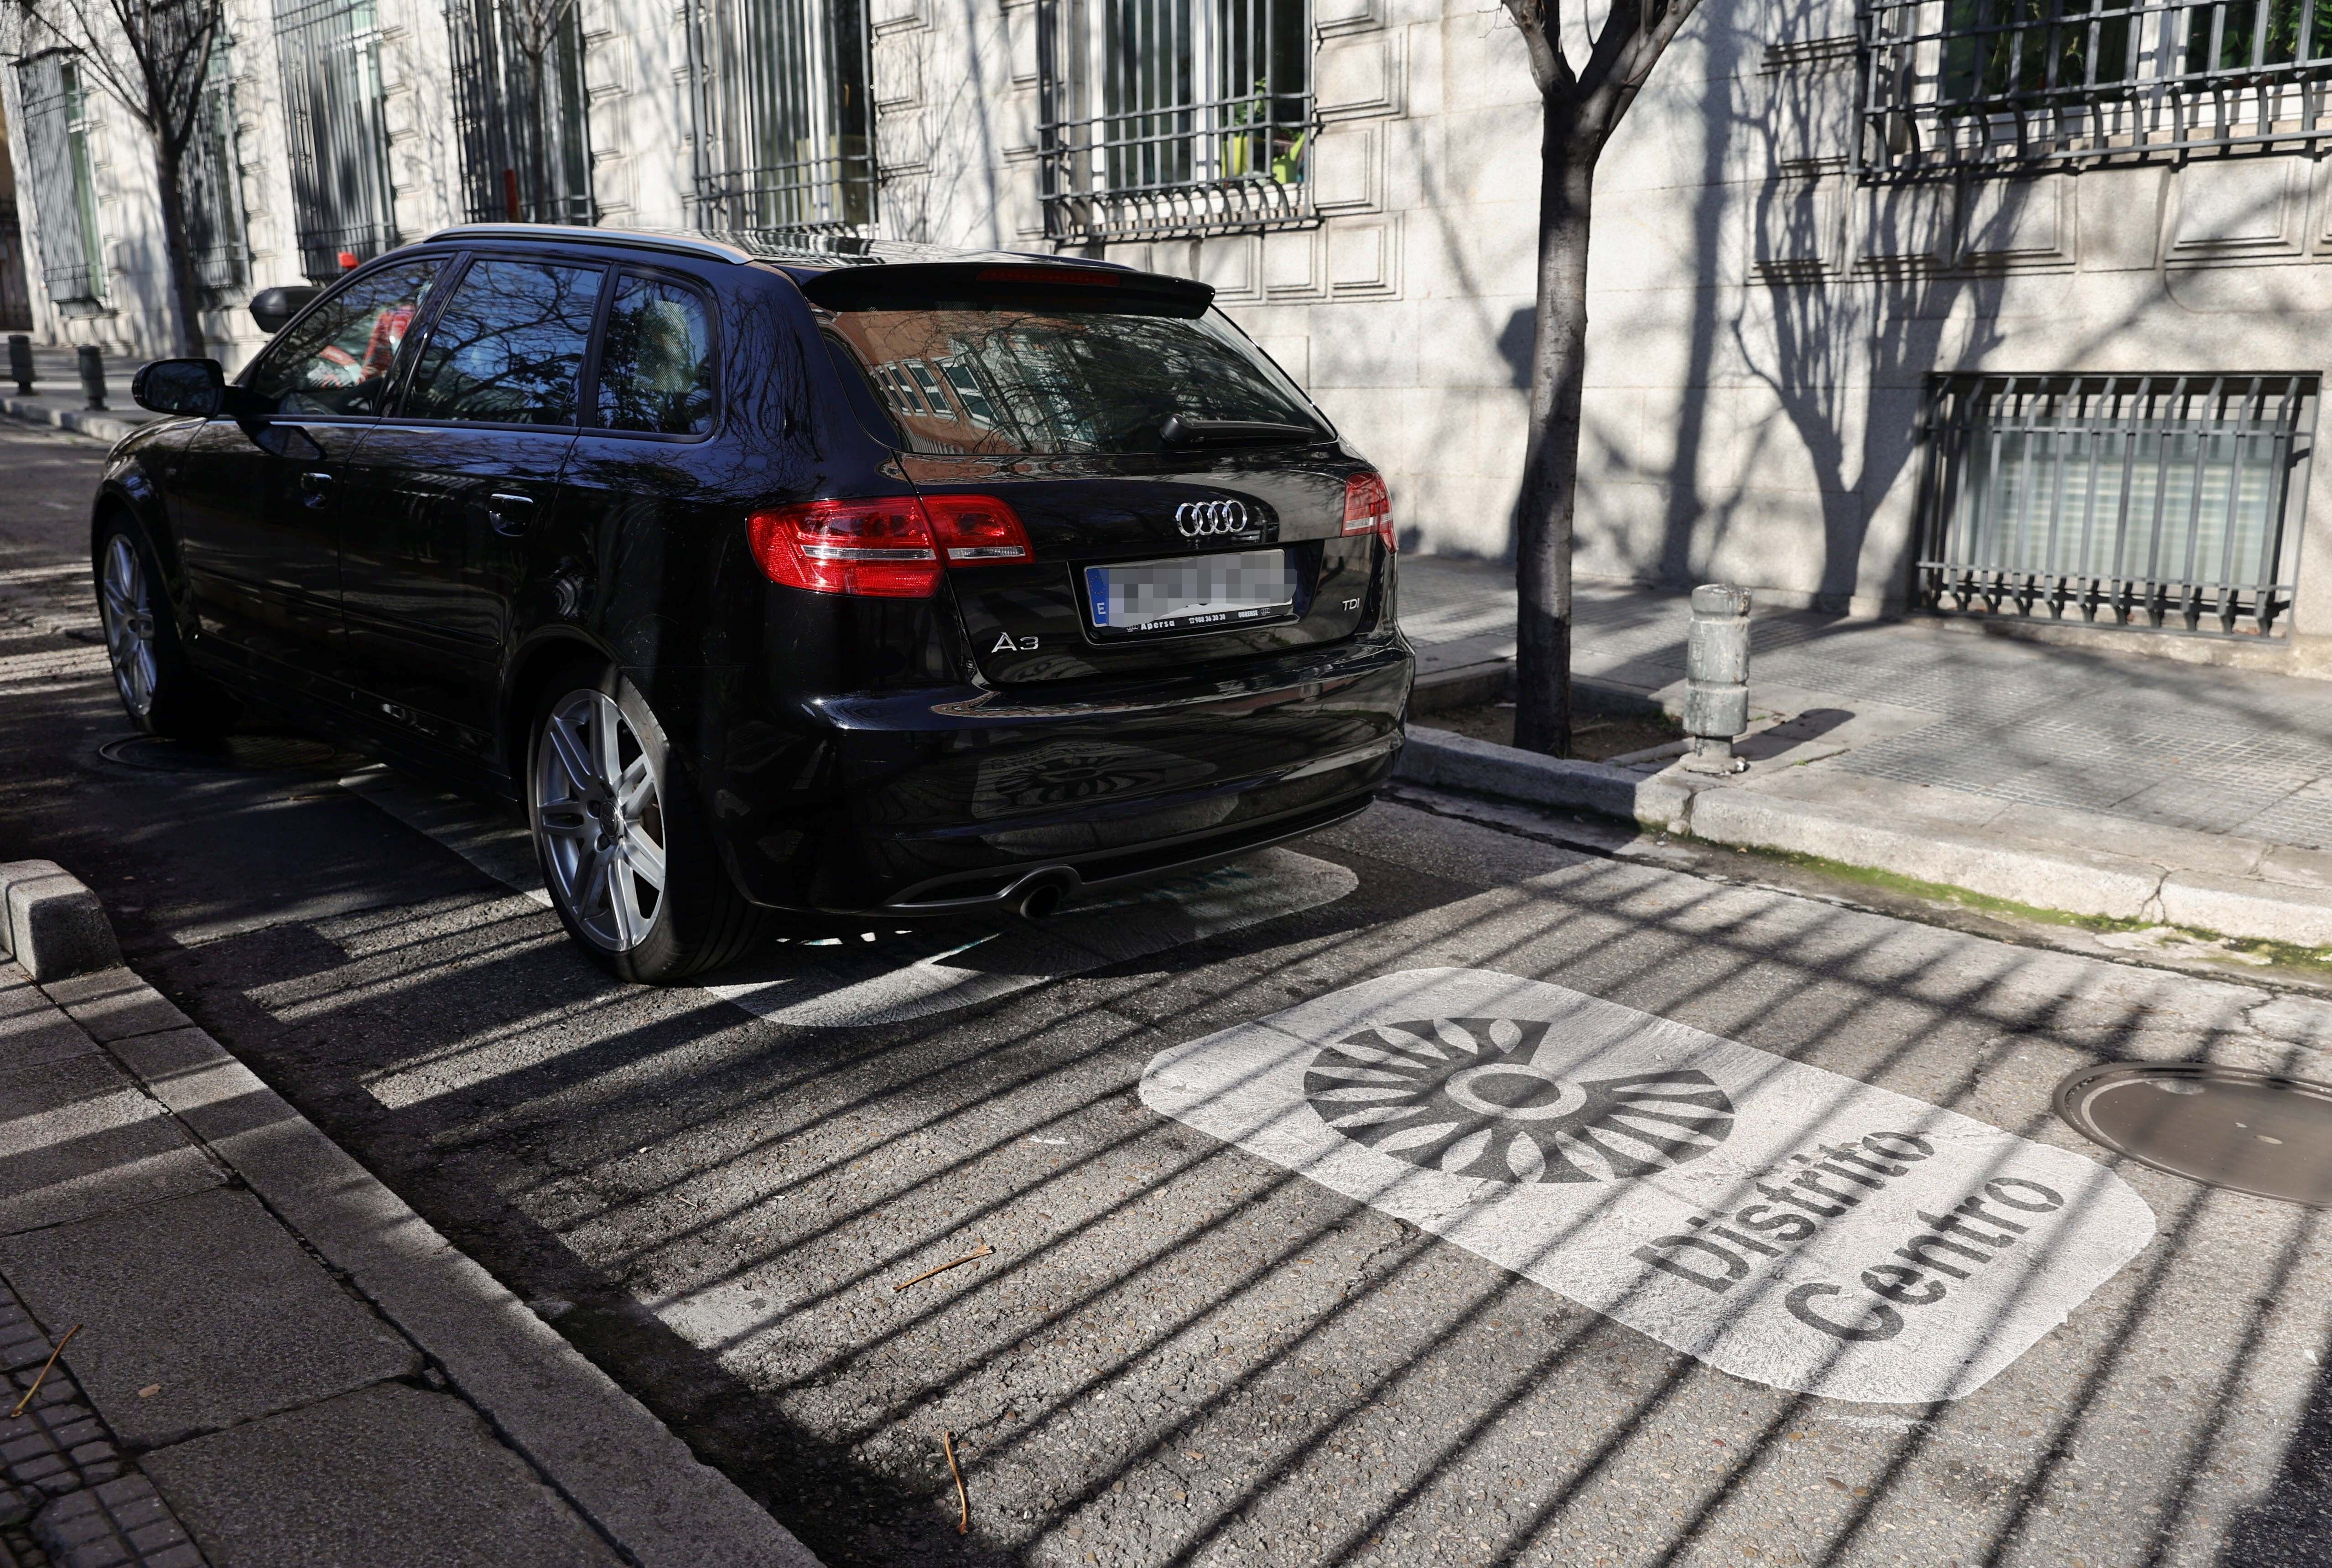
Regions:
[[[1600, 170], [1581, 574], [2332, 672], [2332, 9], [2092, 2], [1702, 7]], [[1495, 0], [229, 0], [229, 362], [254, 287], [459, 219], [1073, 250], [1215, 285], [1409, 548], [1511, 548], [1539, 114]], [[0, 79], [37, 331], [156, 352], [152, 173], [68, 65]]]

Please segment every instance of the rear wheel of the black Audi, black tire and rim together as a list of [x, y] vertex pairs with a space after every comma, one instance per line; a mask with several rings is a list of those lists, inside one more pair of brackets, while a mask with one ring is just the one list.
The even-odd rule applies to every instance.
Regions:
[[763, 936], [665, 726], [613, 665], [578, 663], [546, 686], [525, 784], [550, 908], [616, 978], [669, 985], [732, 964]]

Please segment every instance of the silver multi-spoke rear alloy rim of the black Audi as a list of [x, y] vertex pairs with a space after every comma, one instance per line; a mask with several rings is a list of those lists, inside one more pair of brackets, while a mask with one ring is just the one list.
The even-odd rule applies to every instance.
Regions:
[[592, 945], [639, 947], [665, 901], [655, 763], [599, 691], [557, 702], [534, 751], [534, 831], [550, 896]]

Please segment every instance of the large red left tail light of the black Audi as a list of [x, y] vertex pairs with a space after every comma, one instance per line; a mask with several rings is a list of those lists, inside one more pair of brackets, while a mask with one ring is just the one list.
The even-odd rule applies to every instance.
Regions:
[[986, 495], [802, 502], [746, 518], [772, 583], [863, 600], [928, 600], [940, 569], [1031, 560], [1028, 530]]

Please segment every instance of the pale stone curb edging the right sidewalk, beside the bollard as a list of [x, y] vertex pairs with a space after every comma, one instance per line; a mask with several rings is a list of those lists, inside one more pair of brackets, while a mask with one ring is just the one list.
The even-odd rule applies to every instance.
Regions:
[[1735, 849], [1782, 849], [2066, 915], [2332, 945], [2332, 889], [2171, 868], [1982, 826], [1856, 812], [1716, 782], [1637, 775], [1411, 726], [1395, 777], [1527, 805], [1618, 817]]

